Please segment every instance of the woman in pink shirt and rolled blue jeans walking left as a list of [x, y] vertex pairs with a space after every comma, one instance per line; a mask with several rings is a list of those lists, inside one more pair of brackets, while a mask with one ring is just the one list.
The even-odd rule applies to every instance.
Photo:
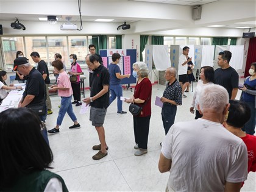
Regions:
[[58, 90], [59, 96], [62, 98], [59, 110], [59, 116], [57, 118], [57, 124], [54, 129], [48, 130], [48, 133], [59, 133], [60, 125], [62, 124], [63, 118], [68, 113], [69, 117], [74, 122], [74, 125], [69, 127], [69, 129], [80, 128], [80, 124], [77, 123], [76, 115], [73, 112], [71, 99], [73, 90], [71, 87], [71, 83], [69, 80], [68, 74], [64, 71], [63, 63], [61, 60], [55, 60], [52, 62], [52, 66], [54, 66], [54, 70], [59, 72], [59, 77], [57, 79], [57, 85], [52, 85], [52, 90]]

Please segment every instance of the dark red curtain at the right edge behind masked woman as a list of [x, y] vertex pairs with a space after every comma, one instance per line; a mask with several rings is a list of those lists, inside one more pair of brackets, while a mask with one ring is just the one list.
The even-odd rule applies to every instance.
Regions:
[[250, 76], [249, 69], [251, 68], [251, 64], [256, 62], [256, 37], [251, 38], [249, 41], [249, 48], [246, 60], [246, 69], [244, 71], [244, 77]]

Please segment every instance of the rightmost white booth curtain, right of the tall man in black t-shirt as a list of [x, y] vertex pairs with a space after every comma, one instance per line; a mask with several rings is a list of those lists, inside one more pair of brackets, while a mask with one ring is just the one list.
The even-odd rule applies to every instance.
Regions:
[[244, 60], [244, 46], [230, 45], [229, 51], [232, 52], [232, 57], [229, 62], [230, 66], [236, 70], [242, 69]]

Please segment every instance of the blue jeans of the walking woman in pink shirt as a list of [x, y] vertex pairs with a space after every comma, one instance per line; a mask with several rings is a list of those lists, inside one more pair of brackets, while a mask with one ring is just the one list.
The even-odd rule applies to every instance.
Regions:
[[62, 121], [66, 112], [68, 113], [68, 116], [72, 119], [73, 122], [77, 120], [71, 104], [72, 95], [69, 97], [60, 97], [60, 98], [62, 98], [62, 101], [60, 101], [59, 116], [57, 118], [57, 125], [59, 126], [62, 124]]

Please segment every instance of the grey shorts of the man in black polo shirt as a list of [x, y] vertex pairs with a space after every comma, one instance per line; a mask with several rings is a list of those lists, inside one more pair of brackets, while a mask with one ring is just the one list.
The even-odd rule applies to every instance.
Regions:
[[104, 124], [107, 108], [91, 107], [90, 109], [90, 121], [92, 126], [101, 127]]

